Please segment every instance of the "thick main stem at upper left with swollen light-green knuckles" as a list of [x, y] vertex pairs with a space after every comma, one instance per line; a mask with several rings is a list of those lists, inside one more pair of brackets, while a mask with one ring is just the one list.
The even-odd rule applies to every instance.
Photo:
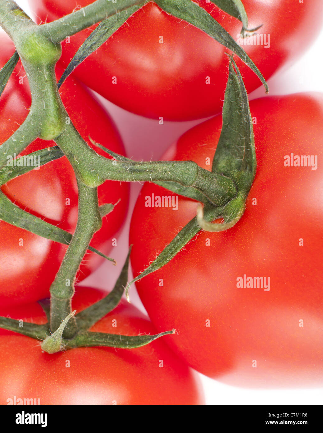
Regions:
[[0, 25], [16, 45], [32, 94], [29, 115], [1, 146], [0, 167], [6, 156], [19, 154], [34, 139], [54, 139], [63, 128], [64, 106], [58, 93], [54, 68], [61, 46], [35, 31], [37, 26], [11, 0], [0, 3]]

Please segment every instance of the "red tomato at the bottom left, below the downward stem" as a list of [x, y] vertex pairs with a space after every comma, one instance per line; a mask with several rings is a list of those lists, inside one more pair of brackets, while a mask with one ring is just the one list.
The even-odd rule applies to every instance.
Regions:
[[[104, 295], [99, 290], [78, 288], [73, 308], [81, 311]], [[25, 314], [35, 310], [35, 306], [26, 306]], [[10, 315], [9, 310], [7, 314]], [[35, 323], [45, 322], [44, 313], [34, 314]], [[19, 315], [15, 311], [10, 317]], [[149, 320], [126, 301], [91, 331], [124, 335], [156, 333]], [[8, 399], [15, 396], [39, 398], [39, 404], [64, 405], [204, 403], [194, 372], [162, 339], [138, 349], [82, 347], [49, 355], [42, 352], [34, 339], [0, 332], [0, 404], [10, 403]]]

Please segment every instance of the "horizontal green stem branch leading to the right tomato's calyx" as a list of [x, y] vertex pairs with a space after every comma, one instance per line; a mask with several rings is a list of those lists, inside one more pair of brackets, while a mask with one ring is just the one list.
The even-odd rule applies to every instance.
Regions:
[[67, 156], [77, 176], [90, 187], [113, 181], [170, 181], [201, 191], [211, 203], [222, 205], [237, 194], [227, 176], [211, 173], [193, 161], [112, 161], [98, 155], [82, 139], [75, 127], [65, 125], [55, 140]]

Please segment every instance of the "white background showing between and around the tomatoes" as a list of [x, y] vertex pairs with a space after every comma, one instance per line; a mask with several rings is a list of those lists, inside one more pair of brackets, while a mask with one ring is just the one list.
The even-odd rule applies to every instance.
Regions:
[[[20, 0], [17, 3], [27, 13], [30, 13], [27, 0]], [[274, 76], [268, 81], [270, 94], [287, 94], [309, 90], [323, 92], [322, 45], [323, 29], [316, 42], [292, 68], [280, 73], [279, 76]], [[263, 87], [255, 90], [249, 96], [249, 99], [264, 96]], [[168, 146], [176, 141], [183, 132], [202, 121], [164, 122], [163, 134], [161, 136], [160, 125], [158, 125], [157, 120], [149, 120], [136, 116], [104, 100], [102, 97], [99, 97], [99, 99], [109, 111], [121, 133], [127, 156], [135, 160], [159, 159]], [[110, 263], [104, 263], [96, 272], [86, 278], [82, 282], [82, 285], [105, 290], [113, 288], [127, 255], [129, 223], [140, 188], [141, 185], [139, 184], [131, 185], [128, 217], [122, 232], [118, 235], [118, 245], [113, 247], [110, 253], [117, 260], [118, 265], [112, 266]], [[131, 277], [132, 275], [129, 275], [129, 278]], [[142, 311], [145, 311], [134, 286], [130, 289], [130, 295], [131, 302]], [[204, 375], [199, 374], [199, 376], [203, 384], [207, 404], [323, 404], [323, 388], [253, 390], [223, 385]]]

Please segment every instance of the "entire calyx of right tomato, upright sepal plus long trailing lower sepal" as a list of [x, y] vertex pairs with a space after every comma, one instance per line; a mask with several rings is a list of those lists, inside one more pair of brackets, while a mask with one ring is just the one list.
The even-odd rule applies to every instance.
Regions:
[[[227, 196], [227, 201], [221, 206], [214, 206], [210, 201], [204, 202], [203, 208], [198, 204], [197, 216], [179, 231], [141, 274], [128, 283], [126, 287], [128, 300], [131, 284], [166, 265], [201, 229], [211, 232], [227, 230], [233, 227], [243, 215], [246, 197], [256, 174], [255, 140], [246, 88], [233, 57], [229, 56], [229, 58], [222, 130], [210, 174], [217, 173], [229, 178], [235, 185], [236, 194], [234, 197]], [[221, 217], [224, 223], [212, 223]]]

